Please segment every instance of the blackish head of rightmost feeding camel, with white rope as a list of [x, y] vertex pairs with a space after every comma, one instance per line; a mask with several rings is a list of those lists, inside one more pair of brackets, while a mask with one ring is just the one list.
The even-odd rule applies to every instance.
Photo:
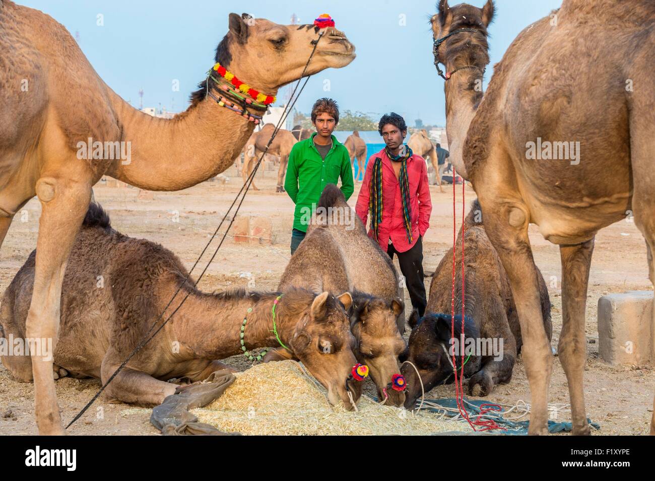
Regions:
[[[415, 402], [421, 397], [421, 382], [423, 390], [427, 393], [434, 386], [453, 382], [453, 361], [449, 355], [451, 351], [451, 321], [449, 316], [426, 313], [419, 319], [419, 313], [415, 310], [407, 321], [411, 327], [407, 351], [403, 353], [402, 361], [409, 361], [416, 366], [413, 368], [409, 363], [404, 363], [401, 373], [407, 382], [407, 394], [405, 396], [405, 408], [413, 408]], [[455, 339], [460, 339], [462, 332], [461, 316], [455, 316]], [[464, 317], [464, 334], [466, 338], [479, 337], [475, 323], [468, 317]], [[466, 344], [466, 340], [464, 341]], [[454, 349], [457, 368], [461, 368], [460, 351]], [[469, 361], [472, 362], [472, 361]], [[479, 358], [474, 362], [479, 363]], [[466, 372], [470, 366], [466, 365]], [[417, 373], [418, 370], [418, 373]], [[421, 376], [421, 380], [419, 377]]]

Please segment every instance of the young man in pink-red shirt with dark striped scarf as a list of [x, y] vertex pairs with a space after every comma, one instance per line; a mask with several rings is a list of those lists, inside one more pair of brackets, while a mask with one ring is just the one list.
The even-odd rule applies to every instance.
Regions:
[[355, 211], [364, 225], [371, 216], [369, 236], [392, 259], [398, 255], [411, 304], [422, 316], [427, 305], [422, 237], [432, 212], [428, 169], [424, 158], [403, 144], [407, 126], [402, 116], [384, 115], [378, 132], [386, 147], [369, 158]]

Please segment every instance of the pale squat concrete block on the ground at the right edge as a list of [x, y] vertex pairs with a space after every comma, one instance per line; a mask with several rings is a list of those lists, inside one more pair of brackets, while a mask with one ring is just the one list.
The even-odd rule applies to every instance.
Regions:
[[612, 364], [654, 361], [653, 291], [607, 294], [598, 300], [598, 351]]

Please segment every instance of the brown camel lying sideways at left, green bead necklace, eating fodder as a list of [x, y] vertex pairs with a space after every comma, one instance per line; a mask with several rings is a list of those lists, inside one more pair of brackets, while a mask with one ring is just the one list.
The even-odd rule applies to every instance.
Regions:
[[[0, 327], [5, 338], [25, 338], [32, 296], [35, 251], [20, 268], [3, 296]], [[77, 234], [64, 274], [59, 339], [54, 348], [55, 376], [100, 378], [106, 382], [145, 338], [180, 285], [181, 292], [162, 319], [189, 297], [165, 327], [130, 360], [105, 389], [111, 399], [160, 404], [176, 392], [166, 380], [204, 380], [226, 368], [217, 359], [245, 348], [280, 346], [293, 349], [312, 375], [326, 387], [331, 404], [352, 408], [348, 389], [359, 399], [361, 383], [346, 381], [356, 364], [354, 338], [345, 309], [352, 297], [305, 289], [284, 293], [248, 293], [243, 289], [209, 294], [182, 284], [187, 271], [168, 249], [124, 236], [109, 225], [99, 205], [91, 204]], [[272, 307], [278, 296], [278, 304]], [[252, 308], [252, 312], [248, 309]], [[161, 321], [160, 321], [161, 322]], [[159, 326], [159, 325], [158, 325]], [[14, 353], [15, 354], [15, 353]], [[3, 364], [21, 381], [32, 380], [29, 355], [2, 355]]]

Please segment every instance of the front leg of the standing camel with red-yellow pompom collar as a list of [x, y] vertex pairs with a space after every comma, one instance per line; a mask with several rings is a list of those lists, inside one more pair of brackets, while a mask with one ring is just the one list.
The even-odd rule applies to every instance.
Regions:
[[[36, 193], [43, 211], [39, 221], [34, 291], [26, 320], [28, 338], [47, 340], [56, 348], [60, 321], [62, 280], [71, 247], [91, 198], [88, 179], [73, 180], [84, 172], [79, 161], [58, 177], [41, 177]], [[65, 174], [68, 177], [65, 177]], [[31, 352], [37, 427], [41, 435], [63, 435], [54, 391], [52, 352]]]

